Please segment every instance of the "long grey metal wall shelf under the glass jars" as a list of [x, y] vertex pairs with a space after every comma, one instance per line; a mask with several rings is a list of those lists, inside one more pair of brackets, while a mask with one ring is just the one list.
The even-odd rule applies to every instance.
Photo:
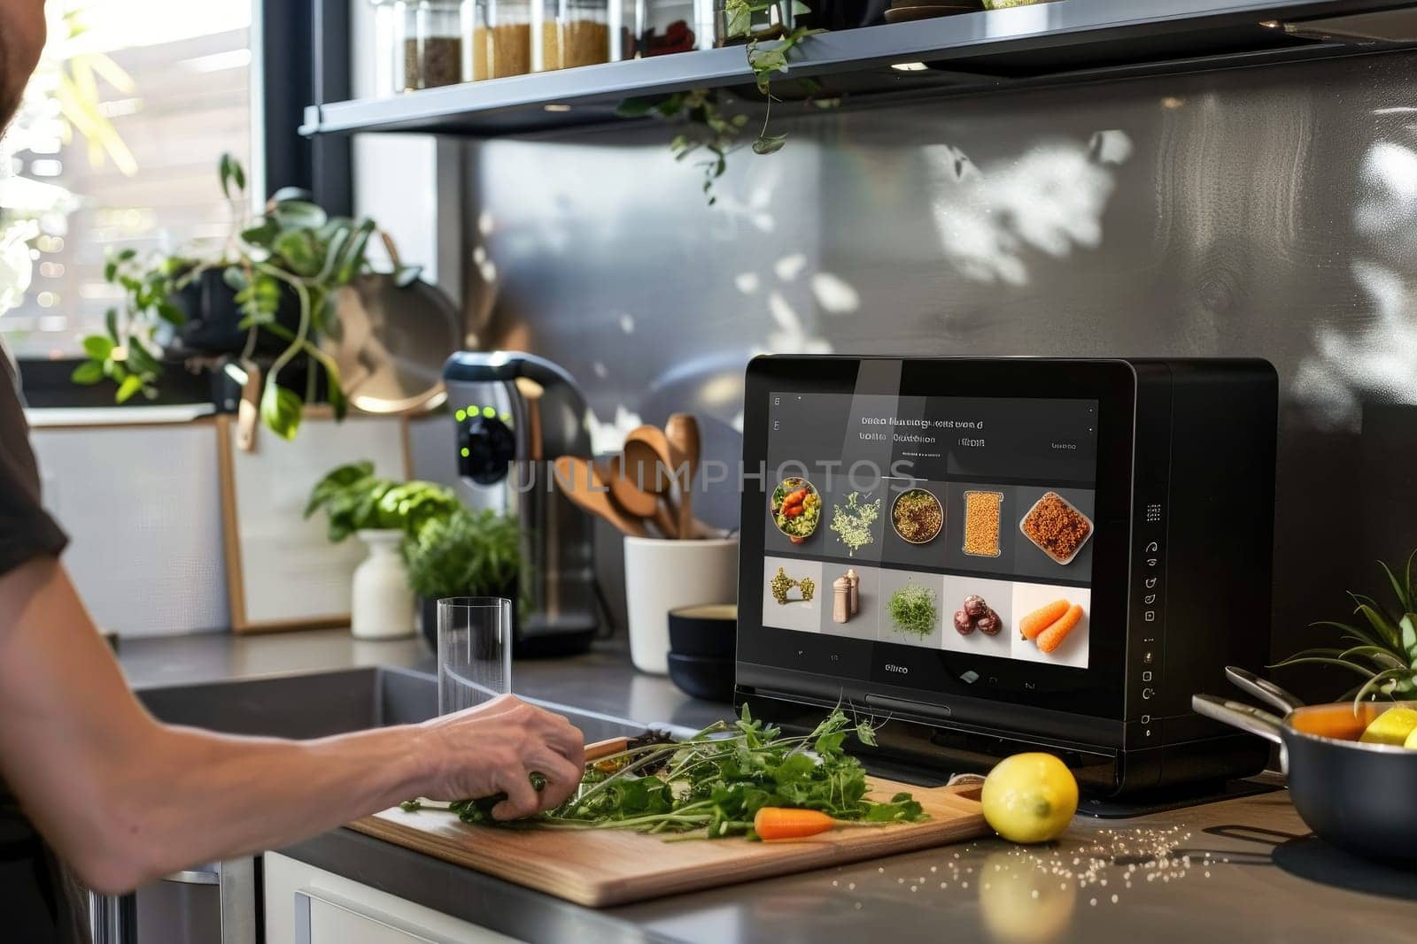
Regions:
[[[1417, 45], [1413, 0], [1058, 0], [826, 33], [802, 44], [791, 76], [847, 96], [938, 93], [1403, 45]], [[728, 47], [312, 105], [300, 133], [520, 134], [621, 120], [626, 98], [751, 85], [743, 48]]]

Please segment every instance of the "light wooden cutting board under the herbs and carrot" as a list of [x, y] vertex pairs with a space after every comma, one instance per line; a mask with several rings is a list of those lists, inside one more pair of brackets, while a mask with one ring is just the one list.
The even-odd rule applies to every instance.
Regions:
[[922, 788], [869, 778], [871, 798], [914, 794], [930, 819], [880, 828], [843, 828], [809, 839], [665, 842], [618, 829], [499, 829], [461, 822], [442, 810], [398, 807], [349, 824], [359, 832], [407, 846], [547, 894], [604, 907], [663, 894], [697, 892], [774, 875], [925, 849], [988, 835], [978, 784]]

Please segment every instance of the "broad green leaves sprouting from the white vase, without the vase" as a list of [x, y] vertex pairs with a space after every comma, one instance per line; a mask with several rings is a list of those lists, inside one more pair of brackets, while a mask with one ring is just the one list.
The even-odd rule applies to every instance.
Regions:
[[400, 483], [374, 474], [374, 463], [359, 461], [332, 470], [310, 490], [305, 517], [329, 515], [329, 538], [339, 543], [366, 528], [398, 528], [417, 538], [434, 521], [462, 511], [452, 490], [431, 481]]

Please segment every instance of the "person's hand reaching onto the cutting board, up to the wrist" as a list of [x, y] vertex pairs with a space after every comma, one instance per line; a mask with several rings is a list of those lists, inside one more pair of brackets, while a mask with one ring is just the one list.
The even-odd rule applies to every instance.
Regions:
[[[486, 705], [424, 722], [434, 752], [429, 800], [476, 800], [504, 793], [497, 819], [530, 817], [560, 805], [585, 769], [585, 737], [560, 715], [503, 695]], [[531, 787], [531, 773], [546, 788]]]

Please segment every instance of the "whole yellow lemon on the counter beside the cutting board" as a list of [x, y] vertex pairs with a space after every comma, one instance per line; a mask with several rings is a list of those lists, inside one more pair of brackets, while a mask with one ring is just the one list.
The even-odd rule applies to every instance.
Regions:
[[983, 818], [1010, 842], [1047, 842], [1063, 835], [1077, 812], [1077, 780], [1053, 754], [1015, 754], [983, 781]]

